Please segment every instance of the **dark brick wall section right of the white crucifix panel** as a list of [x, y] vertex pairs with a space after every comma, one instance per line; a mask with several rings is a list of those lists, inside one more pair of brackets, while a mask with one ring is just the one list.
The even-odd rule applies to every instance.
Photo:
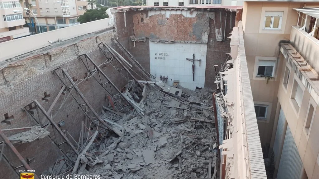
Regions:
[[[207, 55], [206, 55], [206, 74], [205, 74], [205, 87], [208, 88], [215, 88], [215, 70], [214, 65], [220, 65], [220, 63], [224, 64], [226, 60], [226, 53], [229, 53], [230, 51], [230, 39], [227, 37], [230, 36], [230, 32], [232, 32], [233, 28], [230, 28], [230, 11], [221, 11], [221, 25], [222, 25], [222, 31], [224, 34], [224, 28], [225, 28], [225, 16], [227, 13], [227, 19], [226, 19], [226, 35], [225, 35], [225, 41], [218, 42], [216, 41], [216, 35], [215, 35], [215, 25], [216, 28], [220, 28], [220, 15], [219, 11], [215, 12], [215, 21], [213, 19], [210, 19], [210, 33], [208, 35], [208, 43], [207, 43]], [[235, 25], [235, 16], [236, 12], [232, 12], [232, 27]], [[220, 66], [218, 70], [220, 69]]]

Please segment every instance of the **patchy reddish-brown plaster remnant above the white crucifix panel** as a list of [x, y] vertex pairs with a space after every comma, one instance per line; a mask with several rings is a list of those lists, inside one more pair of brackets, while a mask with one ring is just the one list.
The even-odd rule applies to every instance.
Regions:
[[134, 35], [137, 41], [146, 37], [152, 42], [207, 44], [212, 13], [197, 13], [195, 17], [170, 14], [169, 18], [163, 13], [148, 18], [145, 13], [136, 13], [132, 17]]

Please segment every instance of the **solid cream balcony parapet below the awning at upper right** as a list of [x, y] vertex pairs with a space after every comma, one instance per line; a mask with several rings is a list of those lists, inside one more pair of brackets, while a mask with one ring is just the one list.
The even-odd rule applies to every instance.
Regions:
[[299, 26], [292, 26], [290, 42], [308, 64], [319, 73], [319, 40]]

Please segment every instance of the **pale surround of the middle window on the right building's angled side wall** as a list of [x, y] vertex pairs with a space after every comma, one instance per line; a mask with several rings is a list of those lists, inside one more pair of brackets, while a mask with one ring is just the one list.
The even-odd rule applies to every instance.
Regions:
[[[298, 105], [297, 101], [295, 100], [297, 85], [299, 85], [301, 90], [302, 90], [300, 106]], [[291, 92], [290, 92], [289, 103], [291, 104], [293, 111], [295, 112], [297, 117], [299, 117], [299, 114], [300, 114], [300, 108], [302, 106], [302, 100], [303, 100], [304, 93], [305, 93], [305, 86], [302, 84], [302, 82], [296, 76], [296, 74], [294, 74], [293, 75], [293, 87], [292, 87]]]

